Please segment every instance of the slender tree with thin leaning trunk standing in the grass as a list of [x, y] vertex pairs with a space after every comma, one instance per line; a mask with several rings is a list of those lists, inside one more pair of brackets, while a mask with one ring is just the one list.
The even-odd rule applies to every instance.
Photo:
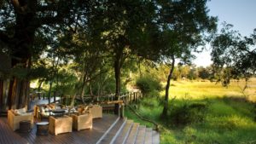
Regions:
[[159, 1], [160, 29], [162, 30], [162, 60], [171, 62], [166, 83], [166, 95], [162, 116], [168, 110], [169, 87], [175, 60], [188, 63], [192, 51], [203, 43], [204, 33], [214, 32], [216, 18], [208, 16], [207, 0], [201, 1]]

